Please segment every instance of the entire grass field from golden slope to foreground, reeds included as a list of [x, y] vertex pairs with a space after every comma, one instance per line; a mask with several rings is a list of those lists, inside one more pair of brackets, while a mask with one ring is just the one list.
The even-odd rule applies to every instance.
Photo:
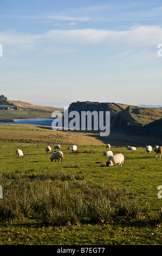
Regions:
[[[46, 154], [55, 144], [62, 162]], [[0, 245], [161, 245], [162, 160], [111, 149], [123, 167], [106, 167], [106, 145], [89, 133], [1, 125]]]

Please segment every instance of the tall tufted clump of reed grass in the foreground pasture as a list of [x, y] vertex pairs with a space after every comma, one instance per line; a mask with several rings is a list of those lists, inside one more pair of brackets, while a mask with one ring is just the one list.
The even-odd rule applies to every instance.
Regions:
[[53, 224], [109, 222], [116, 217], [139, 219], [149, 209], [124, 187], [85, 182], [78, 174], [0, 173], [1, 218], [36, 218]]

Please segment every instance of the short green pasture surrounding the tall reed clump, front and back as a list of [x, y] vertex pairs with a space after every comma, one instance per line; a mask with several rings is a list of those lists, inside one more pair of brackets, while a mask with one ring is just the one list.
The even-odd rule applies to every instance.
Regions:
[[[35, 130], [33, 130], [34, 132]], [[42, 136], [43, 133], [44, 131], [42, 131]], [[52, 149], [50, 154], [45, 151], [47, 145], [50, 145]], [[43, 223], [37, 216], [31, 217], [30, 214], [23, 218], [6, 216], [3, 218], [1, 214], [0, 245], [161, 244], [159, 209], [162, 198], [158, 198], [158, 186], [162, 185], [162, 159], [159, 159], [159, 156], [155, 159], [153, 150], [151, 154], [147, 154], [145, 148], [137, 148], [136, 151], [132, 151], [127, 150], [126, 147], [112, 146], [113, 154], [123, 154], [125, 161], [122, 167], [107, 167], [108, 157], [103, 156], [103, 152], [107, 151], [105, 144], [76, 144], [77, 151], [72, 152], [67, 150], [67, 147], [72, 144], [62, 143], [60, 150], [63, 152], [63, 161], [51, 162], [50, 156], [54, 152], [54, 145], [55, 143], [45, 143], [44, 141], [41, 143], [41, 139], [40, 143], [38, 141], [26, 143], [24, 141], [17, 142], [16, 139], [8, 141], [7, 138], [5, 140], [1, 138], [1, 178], [4, 175], [8, 176], [8, 182], [11, 180], [13, 182], [15, 179], [18, 186], [21, 179], [28, 179], [28, 177], [30, 179], [46, 177], [47, 180], [49, 177], [49, 184], [51, 184], [54, 182], [54, 178], [51, 179], [51, 177], [55, 176], [56, 187], [60, 187], [59, 190], [61, 187], [66, 187], [72, 193], [71, 196], [79, 192], [81, 188], [86, 190], [86, 187], [87, 191], [95, 186], [103, 187], [105, 185], [116, 190], [119, 189], [119, 191], [124, 188], [128, 198], [136, 198], [139, 204], [149, 205], [147, 212], [142, 212], [140, 217], [129, 220], [118, 217], [110, 221], [100, 219], [98, 222], [90, 223], [86, 222], [84, 217], [84, 222], [77, 220], [72, 223], [70, 219], [66, 224], [58, 225]], [[24, 157], [17, 158], [16, 149], [22, 149]], [[12, 174], [18, 175], [18, 179]], [[64, 176], [64, 179], [60, 178], [59, 180], [59, 175], [60, 177]], [[70, 180], [69, 187], [68, 180]], [[7, 190], [7, 188], [5, 189]], [[2, 200], [5, 200], [5, 189], [0, 203], [0, 212]], [[88, 198], [88, 194], [85, 191], [84, 193]]]

